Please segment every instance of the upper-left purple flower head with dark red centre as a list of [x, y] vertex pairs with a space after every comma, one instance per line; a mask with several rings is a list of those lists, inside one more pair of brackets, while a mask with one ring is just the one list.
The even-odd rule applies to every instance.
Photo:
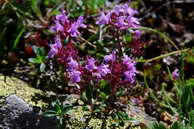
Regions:
[[80, 16], [77, 21], [70, 21], [65, 11], [62, 11], [61, 14], [55, 17], [54, 26], [51, 26], [50, 30], [52, 32], [60, 33], [62, 36], [71, 36], [77, 37], [80, 32], [79, 28], [86, 28], [86, 25], [83, 24], [84, 19]]

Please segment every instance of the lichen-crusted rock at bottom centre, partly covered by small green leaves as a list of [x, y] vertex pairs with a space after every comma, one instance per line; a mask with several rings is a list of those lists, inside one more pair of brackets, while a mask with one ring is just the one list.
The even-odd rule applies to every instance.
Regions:
[[[135, 106], [129, 105], [130, 110], [126, 113], [131, 116], [133, 114], [134, 121], [128, 121], [125, 123], [124, 127], [117, 127], [116, 129], [141, 129], [141, 126], [148, 126], [154, 121], [154, 118], [145, 114], [145, 112]], [[132, 111], [133, 110], [133, 111]], [[69, 121], [70, 129], [112, 129], [114, 120], [111, 117], [106, 119], [99, 119], [90, 116], [91, 112], [83, 111], [82, 107], [79, 106], [71, 113], [71, 120]]]

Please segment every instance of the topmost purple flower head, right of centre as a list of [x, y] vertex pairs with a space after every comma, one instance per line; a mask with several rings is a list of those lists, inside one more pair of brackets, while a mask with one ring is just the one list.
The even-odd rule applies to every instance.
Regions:
[[[101, 15], [96, 22], [98, 25], [110, 24], [117, 27], [120, 30], [126, 30], [129, 28], [137, 28], [140, 26], [138, 18], [134, 17], [137, 11], [130, 8], [128, 4], [117, 5], [113, 10]], [[134, 31], [135, 34], [139, 35], [139, 31]]]

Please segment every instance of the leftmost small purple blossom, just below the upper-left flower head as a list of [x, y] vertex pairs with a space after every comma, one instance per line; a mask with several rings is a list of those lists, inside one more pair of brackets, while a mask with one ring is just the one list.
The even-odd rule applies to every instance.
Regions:
[[50, 45], [50, 51], [48, 53], [49, 58], [53, 58], [56, 54], [58, 54], [59, 50], [62, 48], [61, 39], [59, 36], [55, 37], [55, 43]]

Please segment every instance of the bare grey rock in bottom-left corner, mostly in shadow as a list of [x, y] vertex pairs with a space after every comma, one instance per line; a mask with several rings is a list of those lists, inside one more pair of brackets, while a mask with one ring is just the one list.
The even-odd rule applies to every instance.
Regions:
[[10, 95], [0, 108], [0, 129], [56, 129], [56, 121], [34, 112], [18, 96]]

